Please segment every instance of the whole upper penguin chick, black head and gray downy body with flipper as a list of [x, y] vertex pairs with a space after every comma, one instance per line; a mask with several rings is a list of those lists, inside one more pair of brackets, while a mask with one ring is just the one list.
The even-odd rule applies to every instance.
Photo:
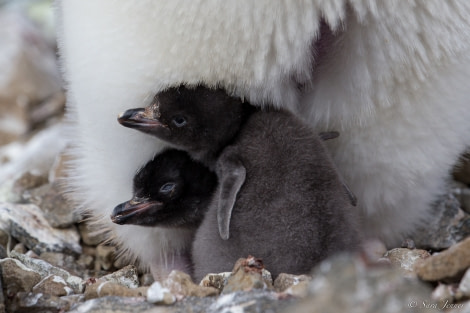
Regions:
[[193, 243], [196, 280], [248, 254], [274, 276], [307, 273], [359, 244], [357, 212], [321, 138], [286, 111], [245, 115], [245, 105], [220, 90], [179, 87], [120, 118], [195, 156], [221, 151], [219, 184]]

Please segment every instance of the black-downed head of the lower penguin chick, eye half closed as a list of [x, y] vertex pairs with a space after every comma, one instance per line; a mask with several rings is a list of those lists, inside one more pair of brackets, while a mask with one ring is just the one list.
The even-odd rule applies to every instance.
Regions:
[[215, 173], [187, 153], [166, 150], [136, 173], [132, 199], [116, 206], [111, 220], [120, 225], [196, 229], [216, 184]]

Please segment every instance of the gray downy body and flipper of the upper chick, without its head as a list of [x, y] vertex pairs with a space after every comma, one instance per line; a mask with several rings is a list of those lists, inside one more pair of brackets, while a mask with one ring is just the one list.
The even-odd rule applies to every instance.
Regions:
[[196, 279], [248, 254], [274, 276], [307, 273], [359, 243], [358, 212], [323, 142], [286, 112], [253, 114], [219, 157], [217, 175], [193, 243]]

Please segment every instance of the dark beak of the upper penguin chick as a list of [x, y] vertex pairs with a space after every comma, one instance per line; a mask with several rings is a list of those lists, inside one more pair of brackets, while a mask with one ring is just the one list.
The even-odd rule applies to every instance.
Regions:
[[118, 122], [129, 128], [154, 135], [168, 135], [168, 126], [154, 117], [150, 110], [145, 108], [129, 109], [118, 116]]

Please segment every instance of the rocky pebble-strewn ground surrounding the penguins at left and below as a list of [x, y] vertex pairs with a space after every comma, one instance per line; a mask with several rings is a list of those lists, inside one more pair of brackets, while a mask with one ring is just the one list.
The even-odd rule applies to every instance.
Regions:
[[31, 22], [48, 3], [25, 2], [0, 2], [0, 313], [470, 312], [470, 163], [403, 247], [370, 243], [371, 255], [310, 275], [273, 281], [247, 257], [200, 284], [180, 272], [154, 282], [116, 261], [61, 192], [65, 96], [49, 23]]

